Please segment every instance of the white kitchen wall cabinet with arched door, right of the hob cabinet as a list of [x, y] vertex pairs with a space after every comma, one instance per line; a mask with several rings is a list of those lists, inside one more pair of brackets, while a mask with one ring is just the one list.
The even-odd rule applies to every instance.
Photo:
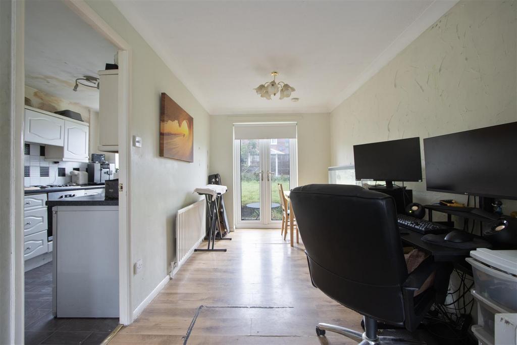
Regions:
[[65, 120], [64, 146], [45, 147], [46, 160], [88, 162], [89, 126], [76, 120]]

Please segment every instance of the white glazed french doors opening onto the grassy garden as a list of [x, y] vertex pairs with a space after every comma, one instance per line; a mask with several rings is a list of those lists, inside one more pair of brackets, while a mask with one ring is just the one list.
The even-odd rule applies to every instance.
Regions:
[[296, 139], [234, 141], [236, 228], [280, 228], [278, 184], [296, 187]]

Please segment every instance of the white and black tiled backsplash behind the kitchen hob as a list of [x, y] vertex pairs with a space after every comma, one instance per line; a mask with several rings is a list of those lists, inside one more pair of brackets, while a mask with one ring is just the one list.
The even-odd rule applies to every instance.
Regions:
[[45, 160], [45, 146], [25, 144], [24, 185], [62, 185], [70, 183], [70, 171], [86, 171], [88, 163], [49, 162]]

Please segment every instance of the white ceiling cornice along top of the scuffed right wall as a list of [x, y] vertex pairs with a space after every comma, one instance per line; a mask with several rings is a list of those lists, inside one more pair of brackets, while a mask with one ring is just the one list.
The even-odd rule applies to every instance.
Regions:
[[374, 61], [364, 69], [361, 74], [348, 86], [341, 91], [336, 97], [331, 98], [328, 108], [332, 112], [348, 97], [352, 96], [364, 83], [386, 66], [394, 57], [396, 57], [404, 48], [409, 46], [411, 42], [417, 39], [425, 30], [433, 25], [438, 19], [447, 13], [459, 0], [434, 0], [428, 8], [426, 8], [413, 23], [391, 42]]

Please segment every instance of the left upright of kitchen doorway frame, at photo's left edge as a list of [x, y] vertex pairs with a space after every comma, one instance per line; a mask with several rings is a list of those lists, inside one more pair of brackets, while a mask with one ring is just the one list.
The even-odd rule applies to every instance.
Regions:
[[0, 343], [24, 339], [23, 109], [25, 3], [0, 1]]

